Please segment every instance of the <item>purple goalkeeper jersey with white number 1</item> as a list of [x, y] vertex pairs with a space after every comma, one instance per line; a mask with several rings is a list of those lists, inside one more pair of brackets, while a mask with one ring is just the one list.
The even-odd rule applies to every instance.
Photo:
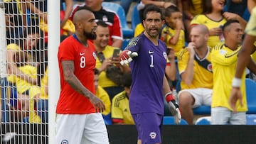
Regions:
[[142, 33], [127, 45], [128, 50], [138, 52], [130, 63], [132, 89], [129, 108], [132, 114], [154, 112], [164, 115], [163, 79], [166, 67], [166, 45], [159, 40], [154, 45]]

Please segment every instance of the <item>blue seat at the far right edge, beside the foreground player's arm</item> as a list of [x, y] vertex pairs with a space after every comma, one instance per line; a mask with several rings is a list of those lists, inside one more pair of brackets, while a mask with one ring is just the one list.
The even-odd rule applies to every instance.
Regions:
[[256, 82], [252, 79], [245, 79], [245, 87], [246, 87], [246, 98], [247, 98], [247, 114], [256, 114]]

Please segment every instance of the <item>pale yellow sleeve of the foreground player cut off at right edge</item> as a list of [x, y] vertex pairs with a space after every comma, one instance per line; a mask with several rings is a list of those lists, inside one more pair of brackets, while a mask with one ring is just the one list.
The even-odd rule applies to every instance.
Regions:
[[248, 21], [246, 28], [245, 28], [245, 33], [248, 35], [256, 36], [256, 6], [255, 8], [252, 9], [252, 13], [250, 15], [250, 20]]

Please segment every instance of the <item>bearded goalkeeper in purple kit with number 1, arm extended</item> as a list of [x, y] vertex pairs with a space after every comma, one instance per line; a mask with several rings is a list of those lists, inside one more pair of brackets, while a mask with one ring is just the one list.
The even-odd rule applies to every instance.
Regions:
[[158, 6], [144, 10], [144, 33], [133, 38], [120, 54], [121, 64], [132, 70], [129, 108], [138, 131], [138, 144], [161, 143], [161, 124], [164, 116], [164, 96], [176, 123], [181, 113], [164, 75], [166, 45], [159, 40], [163, 15]]

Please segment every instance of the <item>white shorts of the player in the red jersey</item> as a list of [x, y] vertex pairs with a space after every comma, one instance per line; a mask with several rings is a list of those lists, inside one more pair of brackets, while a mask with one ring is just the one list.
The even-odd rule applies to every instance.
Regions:
[[55, 143], [109, 143], [101, 113], [57, 114], [55, 132]]

